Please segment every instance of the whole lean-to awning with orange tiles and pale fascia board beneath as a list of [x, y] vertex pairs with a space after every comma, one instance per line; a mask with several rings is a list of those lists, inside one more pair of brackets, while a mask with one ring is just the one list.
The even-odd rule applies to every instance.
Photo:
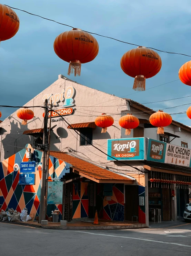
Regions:
[[68, 153], [59, 151], [50, 151], [50, 155], [60, 160], [68, 162], [72, 165], [73, 173], [79, 174], [80, 176], [86, 177], [97, 183], [129, 183], [132, 184], [135, 178], [115, 173], [107, 167], [101, 168], [88, 161], [82, 160], [78, 157], [69, 155]]

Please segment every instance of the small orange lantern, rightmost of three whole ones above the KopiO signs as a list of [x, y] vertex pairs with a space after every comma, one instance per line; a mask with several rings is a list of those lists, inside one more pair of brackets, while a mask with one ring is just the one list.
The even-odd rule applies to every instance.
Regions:
[[172, 123], [172, 117], [162, 110], [159, 110], [150, 116], [149, 121], [153, 126], [158, 127], [157, 134], [164, 134], [164, 127]]

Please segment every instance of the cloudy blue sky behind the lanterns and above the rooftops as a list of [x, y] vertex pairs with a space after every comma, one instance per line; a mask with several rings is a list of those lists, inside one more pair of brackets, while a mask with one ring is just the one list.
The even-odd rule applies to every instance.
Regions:
[[[189, 0], [185, 0], [184, 4], [171, 0], [10, 0], [6, 4], [122, 41], [191, 55]], [[68, 63], [54, 53], [53, 42], [57, 35], [70, 28], [15, 11], [20, 19], [20, 29], [16, 36], [0, 44], [1, 105], [24, 105], [57, 80], [58, 74], [67, 76], [68, 70]], [[134, 79], [123, 73], [120, 59], [134, 46], [95, 37], [99, 43], [98, 56], [92, 62], [82, 65], [80, 77], [71, 75], [70, 79], [140, 103], [191, 95], [191, 87], [180, 81], [133, 94]], [[178, 79], [179, 68], [191, 59], [187, 56], [158, 53], [162, 59], [162, 68], [155, 77], [146, 80], [146, 89]], [[191, 97], [145, 106], [157, 110], [187, 103], [191, 105]], [[186, 111], [188, 107], [189, 105], [167, 109], [166, 112], [170, 114]], [[1, 112], [3, 120], [14, 109], [1, 108]], [[186, 114], [172, 117], [191, 125]]]

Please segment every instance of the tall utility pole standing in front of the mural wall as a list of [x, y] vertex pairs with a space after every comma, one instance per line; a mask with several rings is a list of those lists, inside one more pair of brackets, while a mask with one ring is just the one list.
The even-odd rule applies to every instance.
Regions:
[[40, 189], [40, 212], [39, 212], [39, 223], [44, 219], [44, 196], [45, 196], [45, 185], [46, 185], [46, 152], [47, 152], [47, 120], [48, 120], [48, 99], [44, 101], [44, 130], [43, 130], [43, 152], [42, 152], [42, 177], [41, 177], [41, 189]]

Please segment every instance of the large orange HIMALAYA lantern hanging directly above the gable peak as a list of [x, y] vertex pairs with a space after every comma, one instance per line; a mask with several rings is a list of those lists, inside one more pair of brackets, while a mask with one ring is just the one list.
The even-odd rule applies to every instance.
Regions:
[[80, 76], [81, 63], [87, 63], [96, 58], [99, 45], [91, 34], [79, 28], [61, 33], [54, 41], [54, 51], [60, 59], [69, 62], [68, 75], [74, 73]]

